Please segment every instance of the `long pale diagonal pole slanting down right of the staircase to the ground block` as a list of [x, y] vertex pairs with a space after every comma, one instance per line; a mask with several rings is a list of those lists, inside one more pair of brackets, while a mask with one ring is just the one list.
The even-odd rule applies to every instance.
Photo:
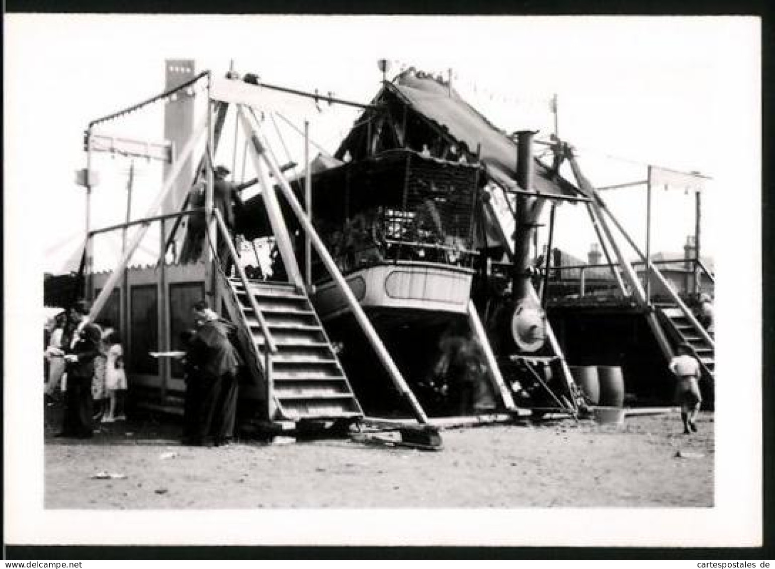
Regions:
[[[263, 150], [264, 144], [260, 140], [257, 132], [253, 132], [253, 139], [257, 142], [256, 150]], [[366, 334], [368, 340], [371, 343], [371, 346], [374, 347], [374, 350], [377, 352], [377, 357], [379, 357], [382, 364], [387, 368], [387, 371], [390, 374], [395, 387], [412, 407], [412, 412], [415, 414], [415, 419], [423, 424], [428, 423], [428, 416], [425, 415], [425, 411], [420, 406], [417, 398], [415, 398], [415, 394], [412, 393], [412, 390], [406, 384], [406, 381], [401, 375], [401, 371], [398, 371], [398, 367], [396, 367], [393, 358], [384, 347], [382, 340], [377, 335], [377, 331], [374, 329], [374, 326], [371, 325], [371, 322], [369, 322], [366, 313], [363, 312], [363, 309], [358, 303], [358, 300], [355, 298], [355, 295], [353, 295], [353, 291], [350, 290], [350, 286], [345, 281], [342, 273], [339, 272], [339, 268], [336, 267], [336, 263], [331, 258], [328, 250], [326, 250], [325, 244], [322, 242], [320, 236], [315, 231], [315, 227], [312, 226], [312, 222], [309, 221], [304, 212], [304, 209], [302, 209], [301, 205], [298, 203], [298, 199], [296, 199], [291, 186], [288, 185], [288, 181], [286, 181], [285, 178], [281, 175], [280, 167], [274, 163], [274, 160], [269, 153], [260, 151], [259, 156], [263, 160], [263, 163], [269, 167], [270, 172], [274, 175], [274, 179], [279, 182], [280, 190], [288, 202], [288, 205], [291, 206], [291, 209], [298, 218], [298, 221], [301, 223], [302, 229], [304, 229], [304, 231], [308, 234], [310, 240], [312, 241], [312, 245], [315, 247], [315, 250], [325, 265], [325, 268], [329, 271], [333, 281], [336, 282], [339, 290], [342, 291], [348, 305], [350, 305], [350, 309], [353, 311], [353, 315], [355, 316], [356, 321], [360, 324], [360, 327], [363, 329], [363, 333]], [[265, 188], [265, 191], [267, 189], [270, 188]], [[270, 193], [270, 191], [267, 191], [266, 193]]]

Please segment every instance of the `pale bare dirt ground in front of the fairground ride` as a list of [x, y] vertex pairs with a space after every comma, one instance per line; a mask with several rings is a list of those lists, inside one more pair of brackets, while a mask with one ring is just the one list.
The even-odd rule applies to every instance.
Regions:
[[[445, 429], [434, 452], [349, 439], [184, 447], [179, 424], [158, 417], [63, 440], [53, 438], [59, 409], [46, 418], [51, 509], [713, 505], [712, 413], [692, 435], [676, 413], [620, 426], [563, 419]], [[99, 472], [126, 478], [92, 478]]]

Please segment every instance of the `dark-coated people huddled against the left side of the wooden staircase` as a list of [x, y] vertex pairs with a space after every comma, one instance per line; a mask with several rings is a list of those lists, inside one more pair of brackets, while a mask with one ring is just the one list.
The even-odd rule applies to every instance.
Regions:
[[193, 306], [195, 328], [181, 337], [186, 392], [183, 443], [219, 447], [232, 442], [243, 357], [236, 326], [207, 305]]

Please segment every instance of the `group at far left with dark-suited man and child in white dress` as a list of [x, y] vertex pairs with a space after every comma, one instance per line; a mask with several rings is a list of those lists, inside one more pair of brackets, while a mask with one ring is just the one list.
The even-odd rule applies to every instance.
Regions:
[[62, 428], [57, 436], [89, 438], [95, 419], [126, 419], [127, 383], [119, 333], [108, 325], [89, 322], [88, 312], [88, 305], [78, 302], [57, 316], [46, 348], [47, 402], [57, 400], [60, 385], [64, 389]]

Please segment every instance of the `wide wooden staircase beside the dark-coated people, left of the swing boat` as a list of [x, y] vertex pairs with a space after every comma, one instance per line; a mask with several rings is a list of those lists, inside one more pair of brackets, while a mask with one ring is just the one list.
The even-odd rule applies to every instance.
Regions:
[[[270, 334], [277, 343], [272, 357], [270, 395], [276, 405], [271, 419], [356, 420], [363, 417], [350, 382], [342, 369], [320, 320], [305, 291], [290, 283], [242, 281], [229, 278], [239, 303], [243, 323], [250, 330], [254, 353], [264, 354], [265, 338], [248, 295], [258, 305]], [[262, 357], [260, 367], [266, 373]]]

